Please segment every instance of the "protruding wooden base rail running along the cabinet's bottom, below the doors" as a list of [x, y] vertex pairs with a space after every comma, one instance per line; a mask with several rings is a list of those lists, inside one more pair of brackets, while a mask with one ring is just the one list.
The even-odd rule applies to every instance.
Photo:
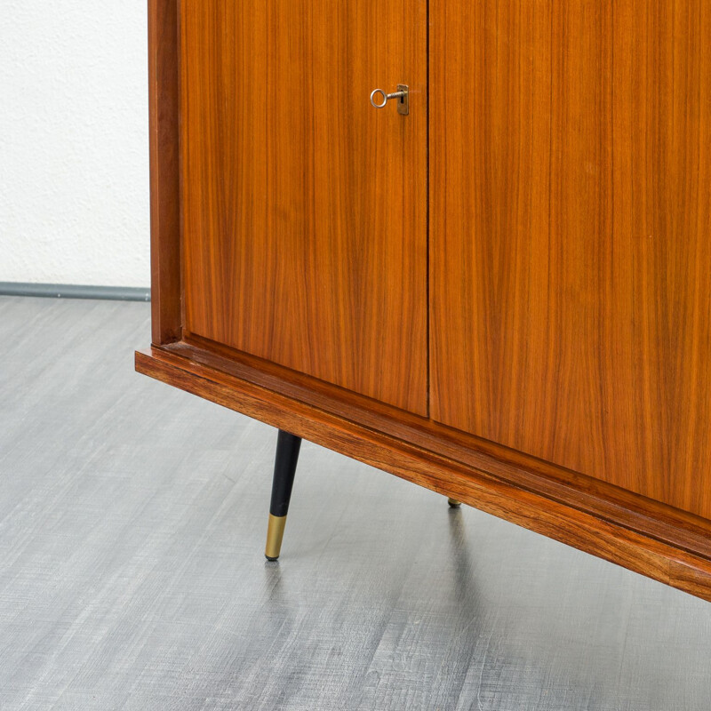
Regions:
[[[609, 484], [315, 383], [251, 356], [180, 341], [136, 369], [372, 467], [711, 601], [711, 525]], [[518, 459], [516, 457], [518, 456]], [[507, 460], [508, 459], [508, 460]]]

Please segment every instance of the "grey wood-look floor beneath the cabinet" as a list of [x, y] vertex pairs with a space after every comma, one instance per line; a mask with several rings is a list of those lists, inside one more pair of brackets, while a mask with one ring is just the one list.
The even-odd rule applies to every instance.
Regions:
[[0, 708], [704, 709], [711, 604], [132, 370], [148, 304], [0, 298]]

